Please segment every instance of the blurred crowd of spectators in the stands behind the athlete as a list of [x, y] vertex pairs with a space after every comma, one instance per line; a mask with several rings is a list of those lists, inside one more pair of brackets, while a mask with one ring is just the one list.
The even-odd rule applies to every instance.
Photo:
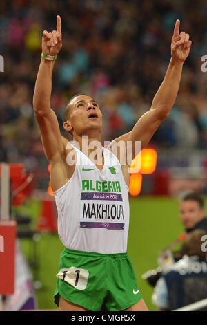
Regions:
[[[177, 18], [190, 34], [192, 49], [175, 107], [152, 142], [159, 148], [206, 149], [206, 0], [1, 0], [0, 161], [45, 167], [32, 95], [43, 30], [61, 16], [63, 48], [52, 82], [52, 109], [59, 124], [68, 100], [77, 93], [95, 97], [103, 111], [103, 140], [132, 129], [161, 84], [170, 61]], [[68, 136], [61, 131], [64, 136]]]

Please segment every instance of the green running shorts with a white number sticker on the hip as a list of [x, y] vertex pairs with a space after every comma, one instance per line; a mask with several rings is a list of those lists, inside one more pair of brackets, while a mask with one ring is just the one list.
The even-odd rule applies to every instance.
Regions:
[[92, 311], [124, 310], [141, 299], [132, 261], [126, 253], [99, 254], [65, 248], [61, 252], [55, 303], [59, 295]]

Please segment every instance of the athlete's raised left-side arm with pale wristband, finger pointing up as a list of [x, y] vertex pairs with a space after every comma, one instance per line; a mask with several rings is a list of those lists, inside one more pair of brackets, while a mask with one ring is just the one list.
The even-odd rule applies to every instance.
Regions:
[[61, 47], [61, 17], [57, 16], [57, 30], [43, 32], [42, 52], [44, 57], [41, 57], [33, 97], [34, 114], [41, 131], [44, 151], [50, 162], [52, 159], [59, 158], [64, 150], [59, 123], [55, 112], [50, 108], [52, 70], [55, 56]]

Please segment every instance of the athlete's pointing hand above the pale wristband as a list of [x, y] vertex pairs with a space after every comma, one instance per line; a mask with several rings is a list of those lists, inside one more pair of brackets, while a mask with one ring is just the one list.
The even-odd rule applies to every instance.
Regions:
[[61, 17], [57, 16], [57, 30], [52, 32], [43, 31], [42, 51], [46, 55], [55, 56], [59, 53], [62, 47], [61, 35]]

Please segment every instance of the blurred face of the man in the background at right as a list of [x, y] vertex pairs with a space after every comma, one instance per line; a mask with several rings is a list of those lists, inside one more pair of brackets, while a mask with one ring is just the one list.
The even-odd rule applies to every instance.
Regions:
[[187, 200], [179, 206], [181, 221], [186, 229], [194, 228], [195, 225], [204, 218], [205, 212], [197, 201]]

